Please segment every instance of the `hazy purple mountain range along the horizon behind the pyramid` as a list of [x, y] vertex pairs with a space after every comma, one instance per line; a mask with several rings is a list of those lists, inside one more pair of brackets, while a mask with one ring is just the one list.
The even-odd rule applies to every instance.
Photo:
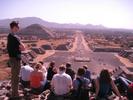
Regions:
[[3, 19], [0, 20], [0, 27], [8, 28], [11, 21], [18, 21], [21, 28], [25, 28], [32, 24], [40, 24], [49, 28], [73, 28], [73, 29], [104, 29], [102, 25], [82, 25], [82, 24], [59, 24], [54, 22], [48, 22], [37, 17], [24, 17], [24, 18], [13, 18], [13, 19]]

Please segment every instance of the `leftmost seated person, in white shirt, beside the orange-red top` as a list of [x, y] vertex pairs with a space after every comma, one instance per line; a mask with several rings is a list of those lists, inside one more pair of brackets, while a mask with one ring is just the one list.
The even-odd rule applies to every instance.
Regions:
[[24, 63], [20, 69], [20, 82], [27, 88], [30, 86], [30, 74], [34, 69], [29, 65]]

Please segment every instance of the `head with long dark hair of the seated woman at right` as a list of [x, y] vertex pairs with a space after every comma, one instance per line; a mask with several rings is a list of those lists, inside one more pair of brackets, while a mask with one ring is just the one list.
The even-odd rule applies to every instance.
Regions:
[[110, 83], [111, 82], [111, 76], [110, 76], [110, 73], [107, 69], [103, 69], [100, 72], [100, 81], [105, 82], [105, 83]]

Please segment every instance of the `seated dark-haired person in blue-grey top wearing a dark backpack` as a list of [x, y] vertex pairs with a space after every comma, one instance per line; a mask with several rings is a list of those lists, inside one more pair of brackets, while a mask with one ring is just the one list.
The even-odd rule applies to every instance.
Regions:
[[73, 81], [74, 100], [89, 100], [90, 80], [85, 78], [84, 74], [85, 74], [85, 69], [79, 68], [77, 72], [77, 77]]

